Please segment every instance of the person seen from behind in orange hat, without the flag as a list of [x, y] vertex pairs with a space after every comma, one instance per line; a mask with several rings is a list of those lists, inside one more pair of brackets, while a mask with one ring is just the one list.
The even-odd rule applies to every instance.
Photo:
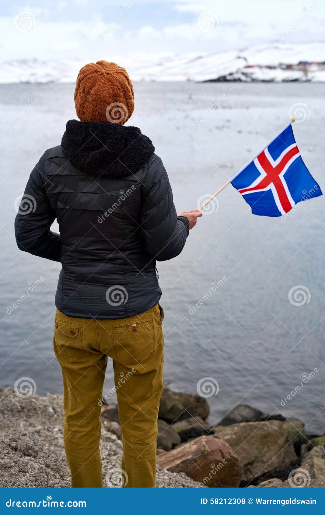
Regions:
[[[53, 345], [62, 368], [64, 445], [72, 487], [102, 487], [100, 411], [113, 360], [122, 431], [124, 487], [154, 487], [163, 390], [163, 308], [156, 261], [182, 250], [202, 213], [177, 216], [150, 139], [124, 126], [134, 91], [124, 68], [83, 66], [75, 90], [80, 119], [30, 174], [17, 214], [20, 250], [61, 262]], [[50, 230], [57, 219], [60, 234]]]

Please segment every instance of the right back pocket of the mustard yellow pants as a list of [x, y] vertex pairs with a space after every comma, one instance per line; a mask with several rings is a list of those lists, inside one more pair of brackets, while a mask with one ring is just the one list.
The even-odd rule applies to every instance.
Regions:
[[113, 329], [114, 353], [118, 363], [140, 365], [151, 359], [155, 352], [152, 320], [117, 325]]

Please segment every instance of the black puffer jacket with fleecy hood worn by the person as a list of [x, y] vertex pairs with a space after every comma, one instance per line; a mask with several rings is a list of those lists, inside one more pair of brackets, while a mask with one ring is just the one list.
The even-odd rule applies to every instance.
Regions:
[[[70, 120], [61, 146], [32, 170], [15, 220], [21, 250], [61, 261], [56, 306], [66, 315], [123, 318], [155, 305], [155, 264], [188, 236], [168, 176], [137, 127]], [[50, 231], [57, 218], [60, 235]]]

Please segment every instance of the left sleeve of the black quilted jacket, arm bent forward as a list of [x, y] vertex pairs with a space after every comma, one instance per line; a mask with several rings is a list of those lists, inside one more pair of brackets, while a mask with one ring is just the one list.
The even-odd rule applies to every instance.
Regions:
[[15, 219], [20, 250], [41, 258], [60, 261], [60, 235], [50, 231], [56, 218], [45, 193], [42, 177], [44, 156], [32, 170]]

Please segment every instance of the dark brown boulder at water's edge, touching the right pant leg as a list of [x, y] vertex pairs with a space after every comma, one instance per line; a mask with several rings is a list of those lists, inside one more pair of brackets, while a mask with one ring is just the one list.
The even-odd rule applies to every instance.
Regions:
[[171, 423], [184, 420], [190, 415], [205, 420], [209, 415], [207, 400], [198, 395], [164, 388], [160, 398], [158, 417]]

